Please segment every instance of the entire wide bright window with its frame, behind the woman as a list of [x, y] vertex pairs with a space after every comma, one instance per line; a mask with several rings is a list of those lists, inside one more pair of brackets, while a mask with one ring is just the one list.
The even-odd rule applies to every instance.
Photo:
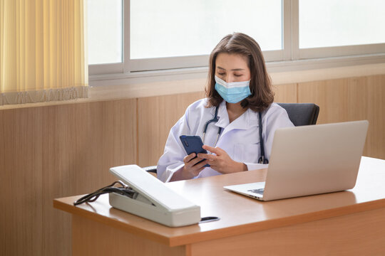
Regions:
[[88, 16], [90, 75], [207, 67], [234, 31], [272, 64], [385, 53], [381, 0], [88, 0]]

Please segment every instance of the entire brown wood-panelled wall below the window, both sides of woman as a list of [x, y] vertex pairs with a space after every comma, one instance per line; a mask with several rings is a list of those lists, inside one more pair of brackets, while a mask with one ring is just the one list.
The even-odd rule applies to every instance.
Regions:
[[[369, 119], [365, 156], [385, 159], [385, 75], [275, 86], [314, 102], [319, 124]], [[111, 166], [154, 165], [170, 127], [202, 92], [0, 110], [0, 255], [71, 255], [71, 216], [53, 198], [90, 193]]]

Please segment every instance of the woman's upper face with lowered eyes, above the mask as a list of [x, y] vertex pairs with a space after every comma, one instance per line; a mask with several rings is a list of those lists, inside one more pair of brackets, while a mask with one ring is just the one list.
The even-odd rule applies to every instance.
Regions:
[[251, 78], [247, 57], [236, 53], [219, 53], [215, 60], [215, 75], [225, 82], [243, 82]]

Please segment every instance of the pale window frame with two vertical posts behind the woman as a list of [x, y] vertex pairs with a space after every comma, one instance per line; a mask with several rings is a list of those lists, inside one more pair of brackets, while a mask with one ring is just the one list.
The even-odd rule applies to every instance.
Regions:
[[[90, 81], [138, 78], [170, 73], [183, 74], [189, 73], [188, 70], [192, 73], [197, 73], [197, 70], [198, 73], [207, 72], [206, 63], [208, 63], [209, 55], [130, 60], [130, 0], [122, 0], [122, 3], [123, 63], [89, 65]], [[370, 55], [374, 56], [374, 62], [378, 62], [379, 57], [385, 57], [385, 43], [300, 49], [299, 0], [282, 0], [282, 41], [282, 50], [263, 51], [267, 66], [278, 71], [279, 67], [282, 70], [288, 70], [290, 65], [295, 67], [294, 69], [306, 69], [309, 66], [317, 67], [314, 63], [321, 63], [320, 67], [322, 67], [322, 65], [326, 65], [325, 63], [330, 63], [329, 58], [333, 58], [336, 63], [341, 62], [346, 65], [347, 59], [359, 60], [359, 56], [363, 57], [363, 61], [357, 63], [371, 63]], [[309, 65], [309, 61], [313, 62], [313, 65]]]

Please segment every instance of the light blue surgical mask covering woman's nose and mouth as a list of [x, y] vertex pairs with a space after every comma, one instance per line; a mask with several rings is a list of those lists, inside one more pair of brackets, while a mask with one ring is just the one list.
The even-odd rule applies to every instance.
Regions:
[[251, 95], [250, 80], [243, 82], [225, 82], [215, 75], [215, 90], [223, 100], [237, 103]]

